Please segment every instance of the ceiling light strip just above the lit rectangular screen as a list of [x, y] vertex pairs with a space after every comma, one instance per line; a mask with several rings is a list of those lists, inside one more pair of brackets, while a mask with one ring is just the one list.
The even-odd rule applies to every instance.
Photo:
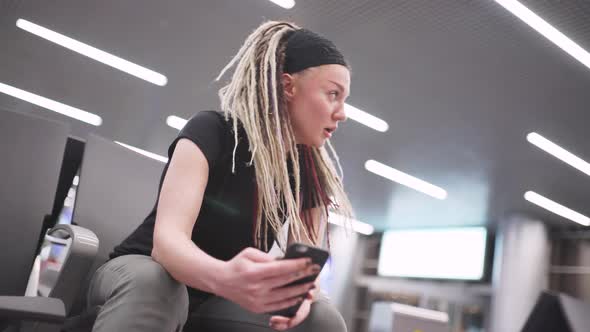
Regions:
[[373, 172], [386, 179], [397, 182], [399, 184], [403, 184], [404, 186], [410, 187], [414, 190], [425, 193], [434, 198], [447, 198], [447, 192], [444, 189], [437, 187], [433, 184], [430, 184], [426, 181], [420, 180], [404, 172], [398, 171], [378, 161], [367, 160], [367, 162], [365, 162], [365, 168], [369, 172]]

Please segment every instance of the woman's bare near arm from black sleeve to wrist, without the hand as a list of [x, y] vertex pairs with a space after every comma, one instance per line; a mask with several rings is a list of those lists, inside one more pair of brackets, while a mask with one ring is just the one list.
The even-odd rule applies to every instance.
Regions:
[[152, 257], [179, 282], [214, 292], [223, 262], [191, 240], [208, 175], [203, 152], [190, 140], [179, 140], [160, 191]]

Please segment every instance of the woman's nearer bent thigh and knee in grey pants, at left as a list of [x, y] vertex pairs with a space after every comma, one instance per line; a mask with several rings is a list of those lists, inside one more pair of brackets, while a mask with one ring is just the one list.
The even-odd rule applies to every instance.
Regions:
[[104, 264], [88, 290], [98, 308], [93, 331], [180, 331], [188, 314], [186, 286], [149, 256], [127, 255]]

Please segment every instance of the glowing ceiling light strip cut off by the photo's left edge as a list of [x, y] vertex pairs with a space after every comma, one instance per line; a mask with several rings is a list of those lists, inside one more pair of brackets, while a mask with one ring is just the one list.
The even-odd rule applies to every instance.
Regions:
[[79, 108], [62, 104], [58, 101], [39, 96], [34, 93], [21, 90], [19, 88], [15, 88], [7, 84], [0, 83], [0, 92], [18, 99], [22, 99], [24, 101], [43, 107], [50, 111], [54, 111], [65, 116], [69, 116], [70, 118], [74, 118], [76, 120], [89, 123], [91, 125], [100, 126], [102, 124], [102, 118], [96, 114], [92, 114], [83, 111]]

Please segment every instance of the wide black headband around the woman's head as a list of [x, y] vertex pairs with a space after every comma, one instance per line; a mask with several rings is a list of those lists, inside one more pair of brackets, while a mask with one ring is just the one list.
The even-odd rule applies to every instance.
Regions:
[[294, 74], [310, 67], [337, 64], [347, 66], [334, 43], [315, 32], [299, 29], [288, 33], [284, 73]]

